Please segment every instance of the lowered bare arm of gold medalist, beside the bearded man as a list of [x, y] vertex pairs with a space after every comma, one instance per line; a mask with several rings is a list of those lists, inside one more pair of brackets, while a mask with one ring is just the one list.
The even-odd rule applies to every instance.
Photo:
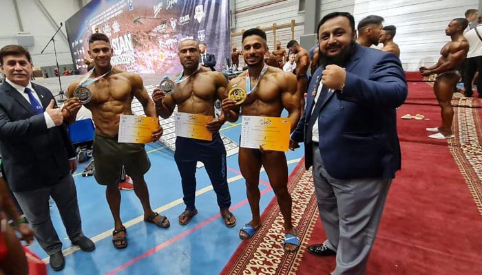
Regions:
[[279, 73], [280, 77], [284, 78], [280, 83], [284, 84], [282, 87], [281, 101], [284, 109], [288, 111], [288, 118], [291, 118], [291, 129], [292, 133], [300, 120], [300, 93], [297, 92], [297, 82], [296, 77], [288, 72]]

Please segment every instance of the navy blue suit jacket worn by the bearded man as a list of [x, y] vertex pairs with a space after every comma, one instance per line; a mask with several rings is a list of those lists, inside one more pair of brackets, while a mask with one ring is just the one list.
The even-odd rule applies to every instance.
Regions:
[[[297, 142], [311, 131], [307, 128], [314, 106], [312, 92], [323, 70], [316, 70], [308, 87], [304, 119], [291, 136]], [[401, 166], [395, 108], [404, 103], [408, 91], [399, 58], [355, 45], [346, 72], [342, 93], [329, 92], [318, 116], [324, 166], [337, 179], [393, 178]], [[313, 164], [313, 144], [307, 142], [306, 169]]]

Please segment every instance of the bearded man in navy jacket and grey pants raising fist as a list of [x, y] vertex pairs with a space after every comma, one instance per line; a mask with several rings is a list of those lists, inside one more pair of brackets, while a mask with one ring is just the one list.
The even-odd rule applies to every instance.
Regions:
[[336, 254], [331, 274], [365, 274], [386, 195], [401, 165], [395, 109], [407, 96], [404, 70], [395, 55], [358, 45], [355, 35], [355, 20], [347, 12], [320, 21], [321, 65], [290, 141], [291, 149], [305, 143], [305, 164], [313, 166], [328, 238], [308, 251]]

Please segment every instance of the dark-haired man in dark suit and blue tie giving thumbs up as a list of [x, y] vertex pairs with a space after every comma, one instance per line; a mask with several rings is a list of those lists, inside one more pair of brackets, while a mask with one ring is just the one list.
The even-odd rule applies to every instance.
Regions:
[[34, 230], [36, 240], [50, 255], [53, 270], [63, 269], [62, 242], [50, 219], [54, 199], [72, 244], [92, 251], [83, 235], [77, 194], [71, 173], [75, 151], [63, 124], [62, 111], [52, 93], [30, 83], [32, 59], [18, 45], [0, 50], [6, 83], [0, 86], [0, 151], [4, 176]]

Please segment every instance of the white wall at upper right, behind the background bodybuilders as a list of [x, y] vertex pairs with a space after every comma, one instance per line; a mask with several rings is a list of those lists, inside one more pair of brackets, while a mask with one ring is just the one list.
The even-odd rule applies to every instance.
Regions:
[[384, 17], [384, 25], [395, 25], [395, 43], [400, 47], [400, 59], [407, 71], [417, 71], [421, 65], [432, 65], [450, 37], [445, 28], [465, 10], [477, 8], [478, 0], [355, 0], [355, 24], [367, 15]]

